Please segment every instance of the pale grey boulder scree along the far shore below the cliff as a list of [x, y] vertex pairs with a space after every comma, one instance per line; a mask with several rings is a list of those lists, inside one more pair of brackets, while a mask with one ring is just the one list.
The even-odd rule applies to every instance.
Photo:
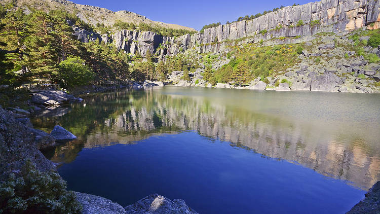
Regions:
[[[380, 93], [380, 64], [371, 62], [371, 59], [357, 55], [355, 51], [347, 50], [347, 44], [353, 44], [349, 39], [351, 34], [345, 35], [317, 35], [310, 42], [305, 43], [305, 49], [297, 57], [297, 63], [274, 76], [257, 77], [248, 85], [237, 85], [234, 81], [216, 83], [212, 85], [204, 78], [205, 65], [185, 78], [184, 72], [173, 71], [167, 75], [165, 83], [175, 86], [236, 88], [271, 91], [322, 91], [342, 93]], [[366, 43], [368, 37], [360, 37], [357, 41]], [[380, 56], [380, 48], [365, 46], [363, 55]], [[213, 55], [216, 60], [212, 68], [218, 69], [228, 64], [234, 56], [228, 58], [225, 53]], [[187, 56], [187, 55], [186, 55]], [[202, 59], [203, 56], [189, 52], [187, 57]], [[186, 79], [189, 79], [186, 80]]]

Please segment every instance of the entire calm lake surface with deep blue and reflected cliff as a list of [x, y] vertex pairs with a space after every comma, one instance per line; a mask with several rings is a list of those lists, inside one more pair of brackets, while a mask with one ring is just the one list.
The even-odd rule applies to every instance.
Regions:
[[200, 213], [345, 213], [380, 180], [380, 95], [161, 87], [42, 114], [78, 136], [45, 155], [68, 188]]

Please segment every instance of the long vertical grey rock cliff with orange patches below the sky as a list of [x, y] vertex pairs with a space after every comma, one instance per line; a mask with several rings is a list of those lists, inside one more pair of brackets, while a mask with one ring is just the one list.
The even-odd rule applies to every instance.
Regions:
[[[344, 34], [366, 27], [380, 28], [379, 3], [375, 0], [322, 0], [301, 6], [288, 6], [249, 21], [207, 28], [204, 33], [179, 38], [163, 37], [153, 32], [122, 30], [112, 35], [113, 43], [127, 53], [175, 55], [189, 48], [199, 53], [217, 52], [231, 41], [273, 44], [299, 43], [321, 32]], [[110, 42], [108, 40], [108, 42]], [[163, 44], [164, 48], [159, 48]]]

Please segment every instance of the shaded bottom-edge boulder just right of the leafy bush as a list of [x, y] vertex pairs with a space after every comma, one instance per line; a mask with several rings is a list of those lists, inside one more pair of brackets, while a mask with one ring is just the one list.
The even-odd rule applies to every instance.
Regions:
[[125, 209], [118, 203], [96, 195], [76, 192], [77, 201], [82, 204], [83, 214], [126, 214]]

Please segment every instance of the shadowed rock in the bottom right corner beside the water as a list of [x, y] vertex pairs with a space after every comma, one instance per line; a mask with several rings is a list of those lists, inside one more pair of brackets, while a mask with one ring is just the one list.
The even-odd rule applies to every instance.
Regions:
[[380, 182], [377, 182], [365, 194], [365, 198], [357, 203], [347, 214], [380, 213]]

